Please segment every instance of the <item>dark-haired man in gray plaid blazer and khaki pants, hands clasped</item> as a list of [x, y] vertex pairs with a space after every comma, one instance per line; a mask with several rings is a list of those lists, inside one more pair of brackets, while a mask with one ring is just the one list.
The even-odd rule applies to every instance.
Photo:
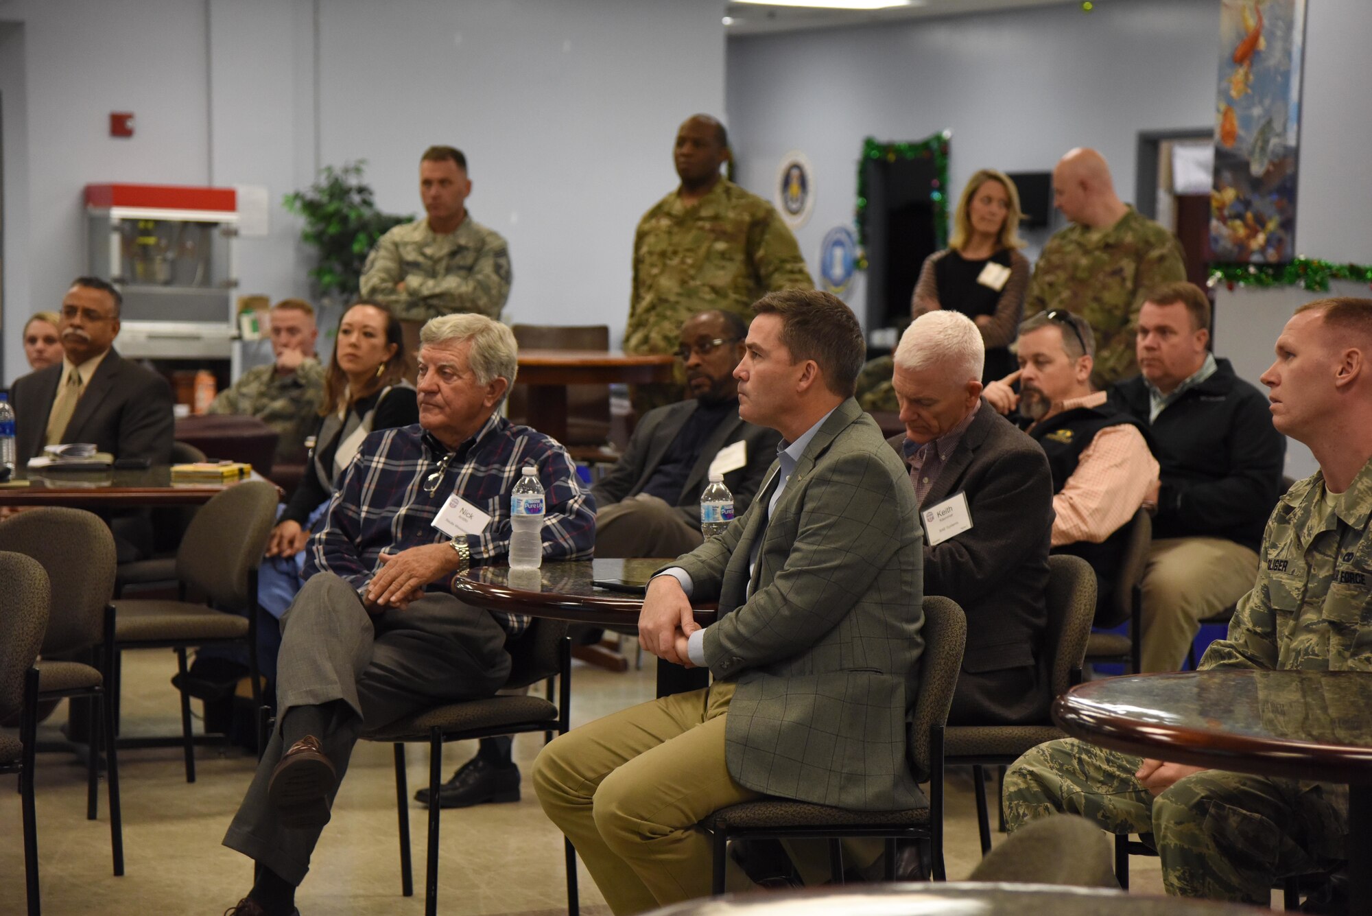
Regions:
[[[772, 292], [755, 311], [740, 413], [783, 448], [744, 516], [654, 576], [639, 616], [643, 649], [715, 683], [582, 725], [534, 764], [616, 916], [708, 894], [696, 824], [727, 805], [921, 801], [906, 764], [921, 531], [900, 461], [853, 400], [862, 330], [825, 292]], [[718, 599], [718, 620], [701, 629], [693, 599]]]

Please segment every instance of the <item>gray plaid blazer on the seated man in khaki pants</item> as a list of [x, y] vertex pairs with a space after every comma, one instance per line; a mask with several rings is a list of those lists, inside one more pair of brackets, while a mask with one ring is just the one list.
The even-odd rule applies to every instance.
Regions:
[[906, 764], [923, 650], [910, 477], [849, 398], [809, 442], [768, 520], [775, 490], [774, 463], [741, 518], [672, 564], [690, 573], [696, 598], [719, 596], [704, 649], [713, 676], [737, 683], [729, 773], [820, 805], [919, 806]]

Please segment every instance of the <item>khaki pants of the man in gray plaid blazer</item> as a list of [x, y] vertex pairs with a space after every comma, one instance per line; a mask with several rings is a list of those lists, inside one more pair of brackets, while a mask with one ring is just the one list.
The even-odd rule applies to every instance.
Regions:
[[534, 761], [534, 788], [615, 916], [708, 897], [707, 815], [760, 798], [729, 775], [731, 683], [674, 694], [563, 735]]

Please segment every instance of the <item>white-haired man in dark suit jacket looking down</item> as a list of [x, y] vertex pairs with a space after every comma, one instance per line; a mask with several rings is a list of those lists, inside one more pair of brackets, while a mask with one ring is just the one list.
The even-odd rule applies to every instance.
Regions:
[[[930, 311], [896, 348], [906, 435], [890, 439], [915, 485], [925, 594], [967, 614], [949, 724], [1026, 724], [1048, 716], [1044, 644], [1052, 476], [1039, 444], [981, 399], [981, 332]], [[933, 517], [933, 518], [932, 518]]]

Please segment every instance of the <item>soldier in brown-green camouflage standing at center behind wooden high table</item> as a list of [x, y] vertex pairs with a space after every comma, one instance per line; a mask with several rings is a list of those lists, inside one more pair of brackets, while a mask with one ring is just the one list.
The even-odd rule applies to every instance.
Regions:
[[[719, 309], [752, 321], [775, 289], [814, 289], [796, 237], [777, 208], [719, 174], [729, 159], [724, 125], [693, 115], [676, 132], [681, 185], [653, 204], [634, 233], [634, 287], [624, 350], [671, 354], [691, 315]], [[681, 400], [681, 387], [643, 385], [639, 413]], [[674, 394], [670, 394], [672, 389]]]

